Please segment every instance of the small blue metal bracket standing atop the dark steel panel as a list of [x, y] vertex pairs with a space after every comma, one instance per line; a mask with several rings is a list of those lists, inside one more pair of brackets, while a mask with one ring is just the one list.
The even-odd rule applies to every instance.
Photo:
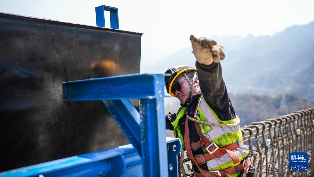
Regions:
[[119, 29], [119, 17], [118, 17], [118, 8], [110, 7], [110, 6], [98, 6], [95, 8], [96, 11], [96, 25], [100, 27], [105, 26], [105, 12], [110, 12], [110, 28]]

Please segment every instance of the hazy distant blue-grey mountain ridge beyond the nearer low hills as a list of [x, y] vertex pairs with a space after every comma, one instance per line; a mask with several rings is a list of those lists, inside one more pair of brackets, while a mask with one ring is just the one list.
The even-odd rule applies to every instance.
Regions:
[[[312, 31], [314, 21], [290, 26], [272, 36], [214, 37], [225, 48], [226, 58], [221, 65], [228, 91], [259, 95], [294, 93], [314, 101]], [[179, 64], [195, 65], [192, 46], [155, 62], [147, 71], [164, 73]]]

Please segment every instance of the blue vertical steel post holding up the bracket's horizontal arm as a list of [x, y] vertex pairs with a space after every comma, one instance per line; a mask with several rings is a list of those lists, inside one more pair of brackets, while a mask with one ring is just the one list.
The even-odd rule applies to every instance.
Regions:
[[154, 75], [154, 81], [154, 97], [140, 99], [143, 176], [168, 177], [163, 75]]

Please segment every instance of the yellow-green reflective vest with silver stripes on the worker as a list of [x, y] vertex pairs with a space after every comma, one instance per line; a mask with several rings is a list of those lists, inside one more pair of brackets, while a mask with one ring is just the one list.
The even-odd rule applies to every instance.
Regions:
[[[176, 138], [180, 138], [182, 142], [182, 147], [185, 147], [184, 137], [181, 134], [180, 126], [178, 125], [179, 120], [184, 116], [186, 108], [181, 108], [179, 113], [176, 116], [176, 119], [171, 122], [173, 125], [173, 133]], [[206, 103], [203, 94], [198, 99], [198, 108], [196, 118], [200, 121], [210, 122], [213, 124], [233, 124], [237, 122], [237, 119], [231, 119], [228, 121], [222, 121], [218, 118], [216, 113], [212, 108]], [[218, 147], [224, 147], [226, 145], [236, 143], [237, 141], [242, 141], [242, 132], [240, 125], [235, 127], [219, 127], [219, 126], [209, 126], [205, 124], [198, 124], [201, 132], [204, 136], [208, 138], [210, 142], [216, 143]], [[203, 152], [208, 153], [205, 147], [203, 146]], [[249, 149], [244, 146], [243, 148], [237, 148], [233, 152], [238, 156], [239, 161], [243, 160], [248, 154]], [[234, 167], [239, 165], [239, 163], [234, 164], [231, 157], [226, 153], [221, 158], [212, 158], [208, 160], [207, 167], [208, 170], [223, 170], [229, 167]], [[230, 176], [236, 177], [239, 173], [231, 174]]]

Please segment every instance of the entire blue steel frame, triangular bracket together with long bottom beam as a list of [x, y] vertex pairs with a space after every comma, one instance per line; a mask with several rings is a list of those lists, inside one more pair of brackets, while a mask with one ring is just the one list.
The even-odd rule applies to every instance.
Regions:
[[[64, 82], [64, 101], [103, 100], [133, 146], [9, 170], [0, 176], [177, 177], [181, 141], [178, 138], [167, 138], [167, 144], [165, 141], [163, 83], [164, 75], [124, 75]], [[140, 99], [139, 112], [128, 100], [133, 98]]]

